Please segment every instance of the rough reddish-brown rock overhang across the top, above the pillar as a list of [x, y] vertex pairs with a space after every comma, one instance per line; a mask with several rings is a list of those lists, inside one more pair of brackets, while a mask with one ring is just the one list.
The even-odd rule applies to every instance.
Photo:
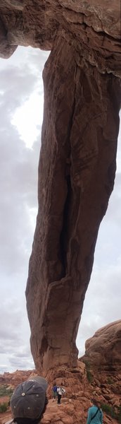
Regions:
[[1, 0], [0, 52], [17, 45], [52, 49], [57, 35], [100, 72], [120, 76], [119, 0]]

